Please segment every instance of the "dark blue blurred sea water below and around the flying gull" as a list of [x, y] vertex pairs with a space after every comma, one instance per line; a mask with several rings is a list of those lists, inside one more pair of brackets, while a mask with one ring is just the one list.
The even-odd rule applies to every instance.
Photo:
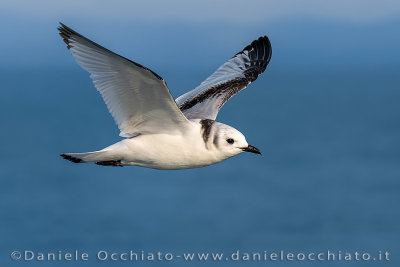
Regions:
[[[172, 94], [203, 73], [160, 73]], [[72, 164], [63, 152], [120, 138], [79, 68], [2, 71], [1, 266], [119, 266], [96, 253], [390, 252], [399, 266], [400, 77], [393, 71], [278, 72], [218, 120], [258, 147], [220, 164], [159, 171]], [[86, 252], [88, 261], [12, 260], [13, 251]], [[274, 266], [307, 261], [235, 261]], [[326, 262], [324, 262], [326, 263]], [[232, 261], [140, 261], [230, 266]], [[320, 264], [320, 263], [315, 263]], [[330, 261], [359, 266], [362, 261]]]

